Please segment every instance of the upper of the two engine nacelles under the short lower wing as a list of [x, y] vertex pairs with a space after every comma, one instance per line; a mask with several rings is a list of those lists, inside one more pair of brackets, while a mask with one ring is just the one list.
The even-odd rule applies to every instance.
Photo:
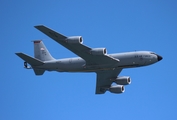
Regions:
[[113, 81], [119, 85], [129, 85], [131, 83], [130, 77], [127, 77], [127, 76], [118, 77]]

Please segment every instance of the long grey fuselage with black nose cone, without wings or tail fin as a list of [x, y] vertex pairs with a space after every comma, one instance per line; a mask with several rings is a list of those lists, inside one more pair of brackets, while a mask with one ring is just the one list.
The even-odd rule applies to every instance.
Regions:
[[33, 68], [45, 69], [58, 72], [96, 72], [100, 70], [113, 70], [117, 68], [133, 68], [151, 65], [162, 59], [161, 56], [150, 51], [135, 51], [108, 54], [120, 62], [117, 64], [106, 63], [104, 65], [87, 65], [80, 57], [65, 58], [52, 61], [45, 61], [42, 66], [32, 66]]

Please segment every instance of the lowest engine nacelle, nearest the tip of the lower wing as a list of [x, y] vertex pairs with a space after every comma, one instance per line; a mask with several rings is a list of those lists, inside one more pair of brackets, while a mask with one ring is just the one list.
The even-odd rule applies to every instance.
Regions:
[[116, 93], [116, 94], [119, 94], [119, 93], [123, 93], [125, 91], [125, 88], [123, 85], [115, 85], [115, 86], [111, 86], [109, 88], [109, 91], [111, 93]]

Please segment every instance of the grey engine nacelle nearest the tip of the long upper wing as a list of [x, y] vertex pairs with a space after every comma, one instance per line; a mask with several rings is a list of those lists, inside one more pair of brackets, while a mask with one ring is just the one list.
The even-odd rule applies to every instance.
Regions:
[[66, 42], [69, 44], [82, 44], [83, 38], [81, 36], [68, 37], [66, 39]]

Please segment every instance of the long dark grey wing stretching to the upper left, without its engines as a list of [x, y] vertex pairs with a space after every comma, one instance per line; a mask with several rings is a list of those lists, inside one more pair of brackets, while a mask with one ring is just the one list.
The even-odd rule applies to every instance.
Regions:
[[87, 47], [83, 44], [69, 44], [66, 42], [66, 39], [68, 37], [55, 32], [54, 30], [51, 30], [43, 25], [35, 26], [39, 31], [43, 32], [62, 46], [66, 47], [68, 50], [72, 51], [79, 57], [83, 58], [86, 61], [86, 64], [89, 65], [106, 65], [107, 63], [111, 64], [117, 64], [119, 62], [118, 59], [115, 59], [108, 55], [92, 55], [90, 54], [90, 50], [92, 48]]

